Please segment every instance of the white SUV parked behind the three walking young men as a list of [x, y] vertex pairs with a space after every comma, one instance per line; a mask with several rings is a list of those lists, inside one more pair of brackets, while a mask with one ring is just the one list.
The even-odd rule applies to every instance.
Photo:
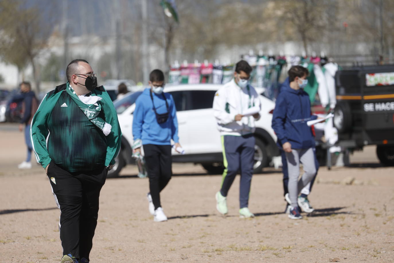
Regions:
[[[212, 174], [223, 171], [222, 146], [212, 109], [214, 95], [221, 86], [215, 84], [165, 86], [164, 91], [170, 93], [175, 101], [179, 142], [186, 153], [180, 155], [173, 150], [173, 162], [199, 163]], [[121, 152], [108, 177], [119, 175], [123, 166], [134, 163], [131, 157], [133, 112], [135, 101], [141, 93], [142, 91], [134, 92], [119, 101], [114, 101], [123, 137]], [[255, 131], [255, 173], [261, 172], [272, 157], [279, 155], [275, 144], [276, 136], [271, 128], [275, 103], [262, 95], [260, 99], [261, 118], [256, 121]]]

